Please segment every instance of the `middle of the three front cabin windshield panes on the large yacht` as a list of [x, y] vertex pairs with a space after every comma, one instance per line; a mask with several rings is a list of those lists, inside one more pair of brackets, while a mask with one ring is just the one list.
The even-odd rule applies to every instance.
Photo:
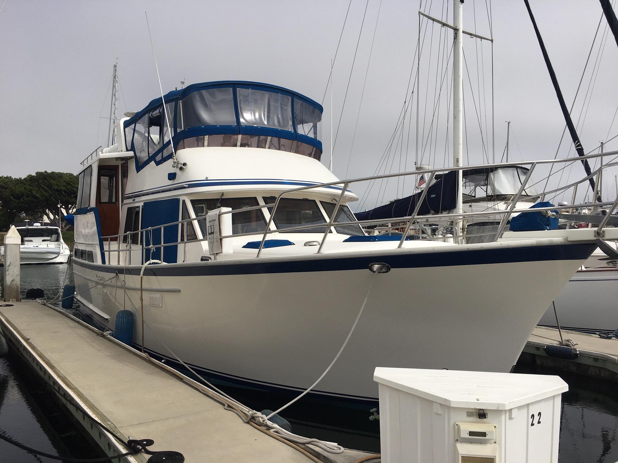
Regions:
[[[273, 204], [276, 198], [264, 198], [266, 204]], [[271, 211], [273, 209], [270, 209]], [[300, 227], [301, 225], [316, 225], [325, 223], [324, 215], [318, 203], [313, 199], [281, 198], [274, 212], [274, 223], [277, 229], [286, 231], [286, 228]], [[290, 233], [324, 233], [326, 227], [311, 227], [292, 230]]]

